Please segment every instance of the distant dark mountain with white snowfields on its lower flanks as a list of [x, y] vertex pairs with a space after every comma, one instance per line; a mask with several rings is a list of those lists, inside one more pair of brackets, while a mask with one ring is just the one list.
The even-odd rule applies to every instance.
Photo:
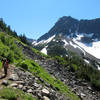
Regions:
[[33, 45], [49, 55], [57, 52], [59, 55], [67, 55], [68, 51], [72, 51], [100, 61], [100, 18], [77, 20], [64, 16]]

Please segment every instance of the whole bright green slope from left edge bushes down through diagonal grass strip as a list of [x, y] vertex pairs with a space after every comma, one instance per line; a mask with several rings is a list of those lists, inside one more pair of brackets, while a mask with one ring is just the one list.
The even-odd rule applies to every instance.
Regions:
[[[44, 79], [46, 82], [54, 86], [59, 90], [59, 92], [64, 93], [68, 98], [73, 100], [79, 100], [79, 98], [68, 89], [60, 80], [53, 78], [45, 69], [40, 67], [32, 60], [27, 60], [25, 56], [22, 54], [21, 48], [18, 48], [15, 44], [17, 39], [5, 34], [0, 33], [0, 56], [8, 58], [10, 63], [15, 63], [18, 66], [29, 69], [31, 73], [37, 75]], [[18, 40], [18, 42], [20, 42]], [[43, 55], [39, 51], [32, 49], [33, 52]], [[22, 61], [24, 61], [22, 63]], [[0, 94], [1, 95], [1, 94]], [[28, 100], [28, 99], [27, 99]]]

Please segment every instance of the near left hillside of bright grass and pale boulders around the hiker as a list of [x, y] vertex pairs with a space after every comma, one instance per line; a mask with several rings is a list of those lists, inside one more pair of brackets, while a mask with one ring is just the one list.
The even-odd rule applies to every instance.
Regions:
[[[9, 63], [11, 63], [8, 69], [11, 71], [6, 78], [2, 77], [2, 69], [0, 71], [2, 84], [0, 85], [1, 99], [80, 100], [68, 86], [34, 62], [35, 59], [49, 59], [48, 56], [4, 32], [0, 33], [0, 57], [1, 59], [7, 58]], [[34, 60], [32, 60], [32, 57]], [[32, 80], [33, 77], [35, 80]], [[24, 90], [25, 87], [26, 90]], [[11, 90], [12, 95], [10, 94]], [[18, 91], [19, 94], [17, 94]], [[27, 93], [30, 93], [30, 95]]]

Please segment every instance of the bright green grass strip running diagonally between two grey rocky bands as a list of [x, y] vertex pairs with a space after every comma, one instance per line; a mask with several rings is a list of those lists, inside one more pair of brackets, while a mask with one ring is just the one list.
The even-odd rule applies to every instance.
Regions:
[[21, 66], [30, 70], [33, 75], [41, 77], [47, 83], [57, 88], [60, 93], [64, 93], [69, 99], [79, 100], [79, 98], [74, 93], [72, 93], [66, 85], [64, 85], [60, 80], [52, 77], [43, 67], [40, 67], [33, 60], [25, 60], [24, 62], [19, 63], [17, 66]]

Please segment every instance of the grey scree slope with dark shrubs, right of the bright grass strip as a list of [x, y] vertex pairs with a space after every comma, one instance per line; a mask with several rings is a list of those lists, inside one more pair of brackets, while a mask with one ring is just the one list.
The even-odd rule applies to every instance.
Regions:
[[26, 54], [28, 58], [31, 57], [31, 59], [40, 66], [43, 66], [50, 74], [68, 85], [81, 99], [98, 100], [100, 91], [95, 90], [94, 87], [98, 89], [100, 87], [100, 72], [89, 66], [77, 55], [72, 56], [71, 54], [71, 59], [68, 57], [65, 59], [61, 57], [39, 57], [34, 55], [31, 48], [22, 47], [24, 54]]

